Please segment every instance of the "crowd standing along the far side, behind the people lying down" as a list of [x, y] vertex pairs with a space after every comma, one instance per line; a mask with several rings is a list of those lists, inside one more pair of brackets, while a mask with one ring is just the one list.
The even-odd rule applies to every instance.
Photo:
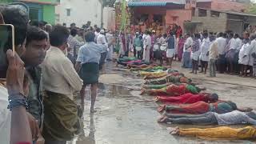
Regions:
[[194, 74], [198, 74], [200, 66], [199, 73], [206, 74], [209, 68], [211, 77], [218, 71], [255, 78], [255, 35], [247, 32], [242, 37], [231, 31], [214, 34], [207, 30], [184, 36], [177, 30], [158, 35], [146, 30], [136, 32], [134, 37], [121, 32], [118, 43], [120, 57], [127, 57], [130, 50], [145, 62], [160, 61], [160, 66], [164, 60], [170, 67], [173, 60], [181, 61], [182, 67], [192, 68]]

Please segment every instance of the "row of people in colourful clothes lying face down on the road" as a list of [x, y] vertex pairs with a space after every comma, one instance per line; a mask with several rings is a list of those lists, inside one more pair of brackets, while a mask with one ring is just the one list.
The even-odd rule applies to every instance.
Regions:
[[[256, 114], [250, 109], [238, 108], [234, 102], [221, 101], [218, 94], [200, 93], [201, 90], [184, 74], [146, 74], [142, 94], [155, 95], [162, 102], [158, 111], [163, 112], [158, 122], [189, 125], [256, 125]], [[234, 129], [227, 126], [216, 128], [172, 128], [171, 134], [211, 139], [256, 138], [256, 128], [247, 126]]]

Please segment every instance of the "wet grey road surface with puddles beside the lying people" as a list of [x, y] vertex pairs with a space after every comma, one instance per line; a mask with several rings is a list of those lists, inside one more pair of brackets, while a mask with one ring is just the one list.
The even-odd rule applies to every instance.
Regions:
[[[142, 79], [127, 70], [106, 64], [100, 78], [95, 114], [90, 114], [90, 90], [86, 89], [86, 107], [83, 114], [83, 130], [69, 144], [175, 144], [175, 143], [254, 143], [250, 141], [205, 141], [197, 138], [179, 138], [158, 124], [160, 116], [154, 97], [141, 96]], [[220, 91], [229, 98], [230, 91], [240, 94], [235, 86], [202, 82], [210, 91]], [[223, 87], [226, 85], [225, 87]], [[243, 88], [255, 94], [255, 89]], [[230, 91], [229, 91], [230, 90]], [[234, 91], [235, 90], [235, 91]], [[237, 100], [240, 101], [240, 100]], [[249, 104], [250, 106], [250, 104]], [[251, 106], [255, 106], [254, 103]], [[254, 107], [255, 108], [255, 107]], [[192, 126], [182, 126], [192, 127]], [[195, 127], [195, 126], [193, 126]]]

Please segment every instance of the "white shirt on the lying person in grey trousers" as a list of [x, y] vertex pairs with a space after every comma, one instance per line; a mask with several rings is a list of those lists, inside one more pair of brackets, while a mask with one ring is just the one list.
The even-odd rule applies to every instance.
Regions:
[[256, 120], [253, 118], [250, 118], [246, 115], [246, 113], [234, 110], [230, 113], [226, 114], [217, 114], [214, 113], [218, 125], [234, 125], [234, 124], [252, 124], [256, 125]]

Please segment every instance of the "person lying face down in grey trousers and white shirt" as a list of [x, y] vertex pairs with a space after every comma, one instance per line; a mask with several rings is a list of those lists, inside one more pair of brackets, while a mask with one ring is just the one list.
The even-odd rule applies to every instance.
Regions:
[[186, 125], [256, 125], [256, 114], [254, 111], [242, 112], [238, 110], [226, 114], [208, 112], [206, 114], [164, 114], [158, 122]]

